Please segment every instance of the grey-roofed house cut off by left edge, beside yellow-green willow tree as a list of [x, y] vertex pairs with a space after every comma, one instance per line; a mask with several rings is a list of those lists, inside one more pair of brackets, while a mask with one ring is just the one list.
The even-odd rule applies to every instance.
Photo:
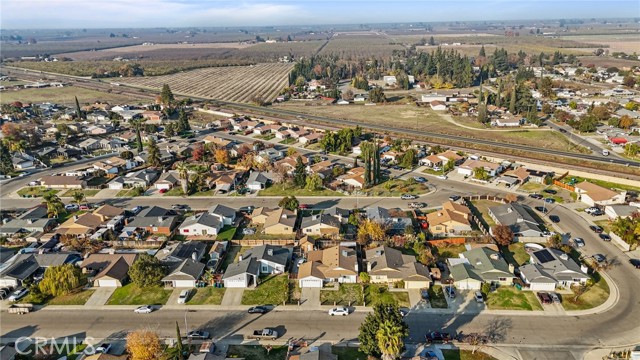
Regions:
[[29, 282], [37, 271], [80, 260], [77, 253], [17, 254], [0, 270], [0, 287], [18, 287]]

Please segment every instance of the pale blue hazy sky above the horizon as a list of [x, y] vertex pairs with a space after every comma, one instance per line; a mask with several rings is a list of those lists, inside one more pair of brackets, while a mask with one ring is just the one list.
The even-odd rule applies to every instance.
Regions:
[[0, 0], [0, 27], [114, 28], [640, 17], [640, 1]]

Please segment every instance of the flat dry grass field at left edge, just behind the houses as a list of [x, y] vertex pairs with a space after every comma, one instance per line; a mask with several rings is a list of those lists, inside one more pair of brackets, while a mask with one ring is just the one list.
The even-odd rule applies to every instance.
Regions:
[[49, 87], [39, 89], [21, 89], [16, 91], [5, 91], [0, 97], [0, 103], [11, 103], [20, 101], [23, 103], [51, 102], [67, 106], [75, 106], [74, 97], [78, 97], [80, 104], [93, 104], [96, 101], [108, 102], [110, 104], [133, 103], [135, 98], [131, 95], [121, 95], [117, 92], [106, 93], [74, 86]]

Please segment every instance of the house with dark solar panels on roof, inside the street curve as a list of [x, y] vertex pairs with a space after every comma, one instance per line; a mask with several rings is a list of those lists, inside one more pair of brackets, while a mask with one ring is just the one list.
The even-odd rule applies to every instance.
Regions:
[[531, 253], [529, 264], [520, 267], [520, 278], [532, 291], [553, 291], [589, 280], [587, 267], [580, 267], [566, 253], [544, 248]]

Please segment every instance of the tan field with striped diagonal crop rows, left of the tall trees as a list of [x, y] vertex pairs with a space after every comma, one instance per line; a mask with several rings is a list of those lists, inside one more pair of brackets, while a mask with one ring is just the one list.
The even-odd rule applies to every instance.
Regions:
[[160, 90], [169, 84], [180, 95], [198, 96], [234, 102], [251, 102], [255, 97], [274, 100], [288, 84], [293, 64], [258, 64], [206, 68], [179, 74], [121, 78], [120, 82]]

